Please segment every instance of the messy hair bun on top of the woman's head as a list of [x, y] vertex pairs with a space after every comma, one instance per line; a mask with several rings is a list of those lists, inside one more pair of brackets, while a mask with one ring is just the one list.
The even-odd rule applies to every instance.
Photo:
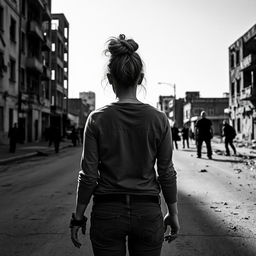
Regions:
[[112, 55], [132, 55], [137, 51], [139, 45], [133, 40], [128, 39], [124, 34], [120, 34], [118, 38], [111, 39], [108, 45], [108, 50]]

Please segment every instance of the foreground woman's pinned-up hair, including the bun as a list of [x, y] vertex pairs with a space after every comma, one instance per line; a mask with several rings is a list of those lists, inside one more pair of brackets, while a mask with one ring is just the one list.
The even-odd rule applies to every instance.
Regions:
[[111, 38], [105, 54], [110, 53], [108, 71], [115, 81], [122, 86], [134, 86], [143, 71], [143, 63], [136, 52], [139, 45], [133, 39], [126, 39], [121, 34]]

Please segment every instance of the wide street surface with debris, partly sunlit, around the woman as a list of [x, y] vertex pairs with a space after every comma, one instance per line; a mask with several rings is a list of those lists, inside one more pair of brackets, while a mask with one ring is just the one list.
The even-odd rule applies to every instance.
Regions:
[[[0, 166], [1, 256], [93, 255], [90, 222], [80, 250], [68, 228], [80, 155], [81, 147], [66, 148]], [[175, 150], [173, 158], [181, 230], [177, 240], [164, 243], [161, 255], [256, 255], [255, 170], [241, 157], [197, 159], [193, 145]]]

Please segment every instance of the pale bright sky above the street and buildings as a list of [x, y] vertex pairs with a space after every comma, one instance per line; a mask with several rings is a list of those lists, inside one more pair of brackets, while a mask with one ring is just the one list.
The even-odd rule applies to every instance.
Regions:
[[[145, 63], [138, 98], [222, 97], [229, 91], [228, 47], [256, 24], [255, 0], [52, 0], [69, 21], [69, 98], [96, 93], [96, 108], [115, 100], [105, 79], [110, 37], [125, 34]], [[159, 82], [167, 84], [158, 84]]]

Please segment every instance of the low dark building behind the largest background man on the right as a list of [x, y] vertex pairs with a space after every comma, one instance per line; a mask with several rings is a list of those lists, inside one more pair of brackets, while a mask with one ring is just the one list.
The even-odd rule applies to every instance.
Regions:
[[221, 135], [223, 120], [227, 118], [224, 110], [228, 107], [228, 97], [223, 98], [201, 98], [199, 92], [186, 92], [183, 107], [184, 124], [191, 126], [195, 131], [195, 123], [205, 111], [207, 118], [212, 121], [214, 135]]

